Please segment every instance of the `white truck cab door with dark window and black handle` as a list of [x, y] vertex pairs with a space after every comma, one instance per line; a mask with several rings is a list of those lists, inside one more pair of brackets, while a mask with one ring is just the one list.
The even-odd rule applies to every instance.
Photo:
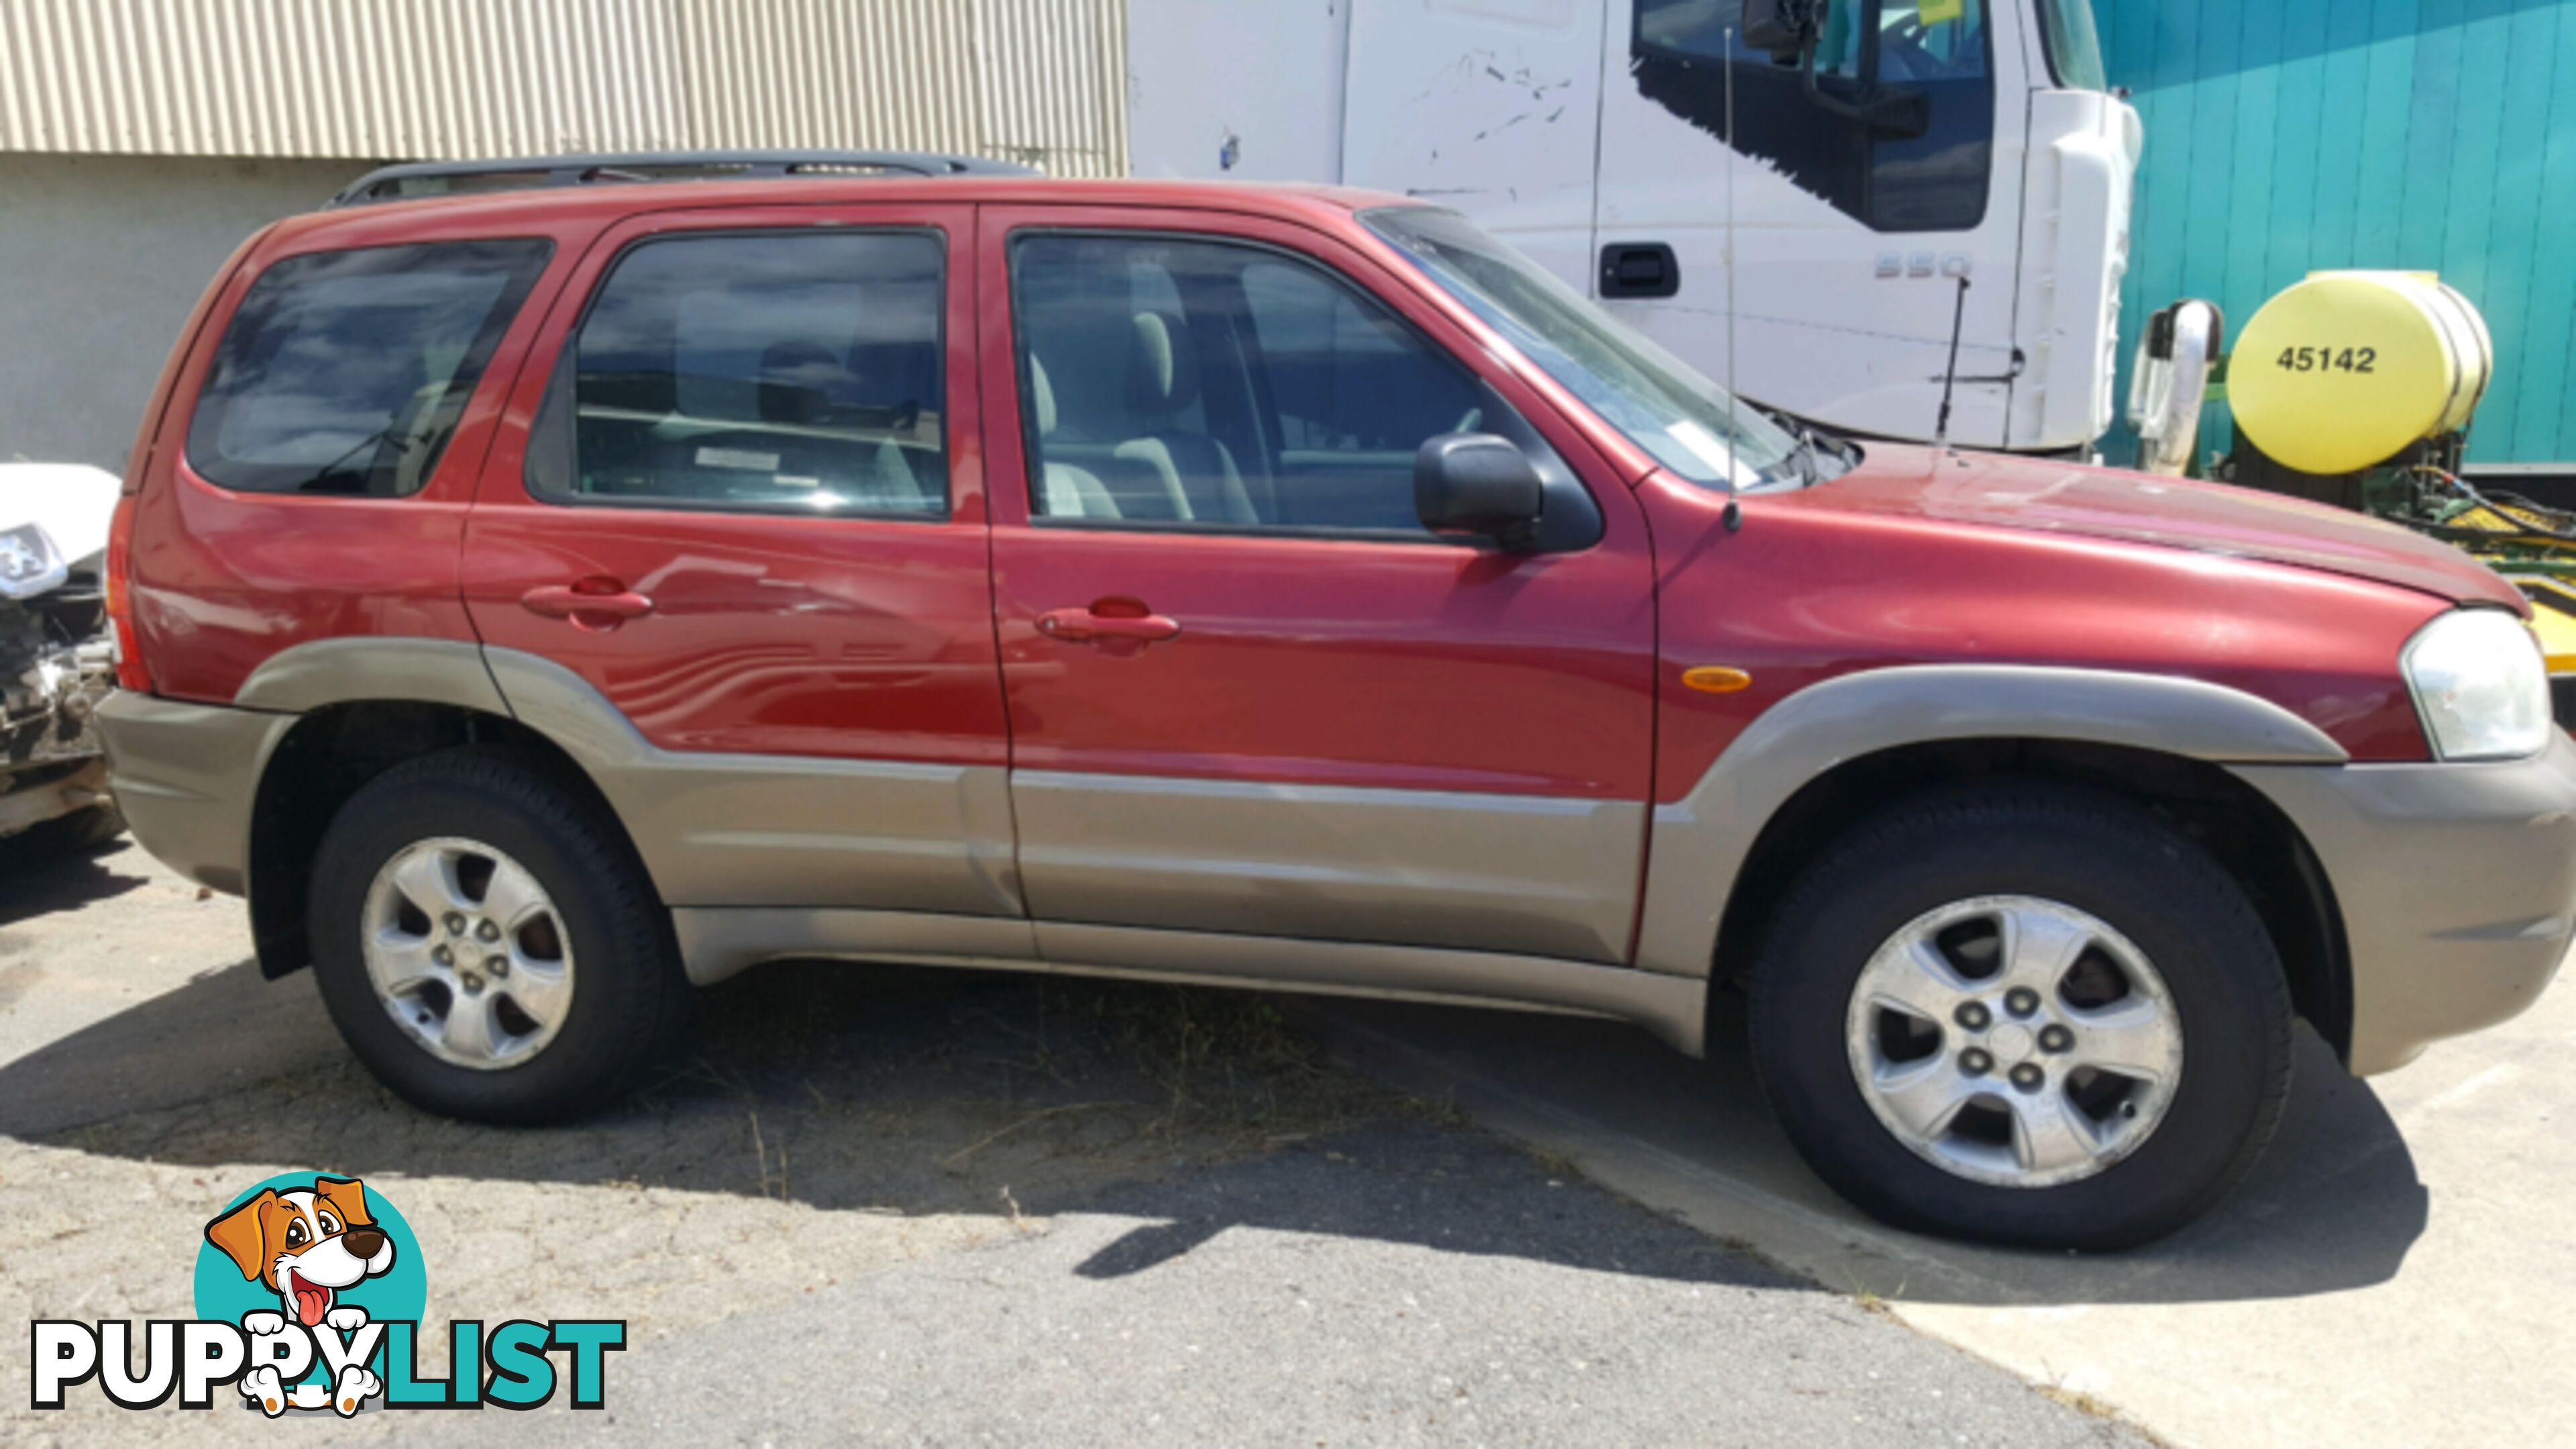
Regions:
[[[1734, 387], [1734, 366], [1747, 397], [1860, 433], [1929, 438], [1965, 278], [1950, 436], [2009, 446], [2017, 8], [1829, 0], [1819, 103], [1795, 64], [1728, 36], [1741, 26], [1731, 0], [1607, 5], [1595, 294]], [[1893, 93], [1919, 98], [1914, 124], [1850, 113]]]

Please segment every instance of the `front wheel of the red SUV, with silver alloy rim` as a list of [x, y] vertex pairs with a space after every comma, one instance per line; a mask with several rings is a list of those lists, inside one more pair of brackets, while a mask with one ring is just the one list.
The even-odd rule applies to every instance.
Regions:
[[1870, 1214], [2125, 1248], [2262, 1152], [2290, 1000], [2205, 851], [2117, 799], [1999, 786], [1901, 804], [1801, 877], [1752, 1049], [1790, 1140]]

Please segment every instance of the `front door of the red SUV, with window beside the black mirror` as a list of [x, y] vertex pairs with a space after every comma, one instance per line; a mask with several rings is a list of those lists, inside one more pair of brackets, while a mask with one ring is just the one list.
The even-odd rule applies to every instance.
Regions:
[[[1041, 954], [1154, 928], [1625, 962], [1654, 724], [1628, 487], [1319, 229], [987, 206], [979, 266]], [[1414, 454], [1450, 431], [1522, 443], [1577, 547], [1425, 531]]]

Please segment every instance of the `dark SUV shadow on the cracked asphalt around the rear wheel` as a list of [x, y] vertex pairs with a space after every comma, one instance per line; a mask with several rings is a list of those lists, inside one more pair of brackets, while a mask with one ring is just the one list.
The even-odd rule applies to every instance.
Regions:
[[309, 972], [268, 982], [242, 959], [0, 1065], [0, 1134], [234, 1173], [1149, 1220], [1079, 1269], [1100, 1279], [1273, 1227], [1811, 1287], [1463, 1132], [1329, 1062], [1273, 998], [1229, 990], [775, 964], [708, 990], [696, 1052], [634, 1101], [497, 1129], [392, 1098], [340, 1044]]

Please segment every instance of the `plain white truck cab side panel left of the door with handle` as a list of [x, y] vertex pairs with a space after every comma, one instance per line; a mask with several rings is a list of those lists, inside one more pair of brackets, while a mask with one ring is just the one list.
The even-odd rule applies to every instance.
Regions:
[[1342, 183], [1455, 206], [1587, 286], [1600, 85], [1602, 0], [1363, 0]]

